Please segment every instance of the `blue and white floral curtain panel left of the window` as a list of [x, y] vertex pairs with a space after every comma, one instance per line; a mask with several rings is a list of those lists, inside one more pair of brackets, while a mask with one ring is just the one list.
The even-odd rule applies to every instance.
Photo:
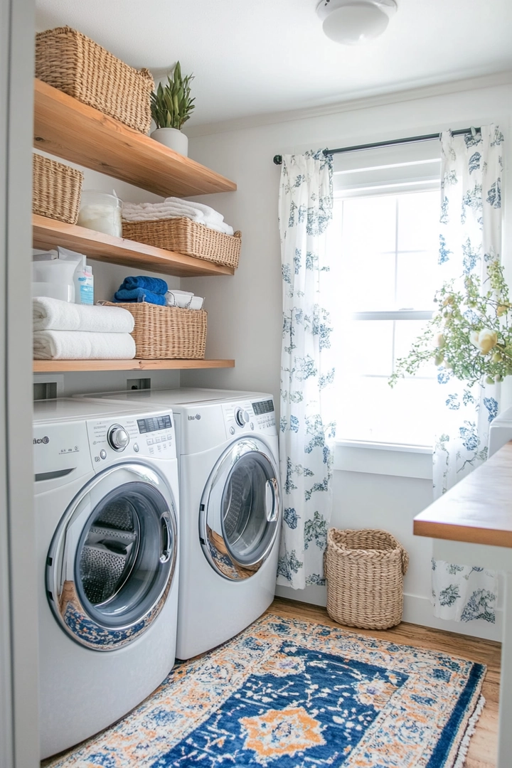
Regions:
[[332, 220], [332, 157], [282, 158], [281, 462], [283, 521], [278, 583], [324, 584], [332, 508], [332, 325], [326, 233]]

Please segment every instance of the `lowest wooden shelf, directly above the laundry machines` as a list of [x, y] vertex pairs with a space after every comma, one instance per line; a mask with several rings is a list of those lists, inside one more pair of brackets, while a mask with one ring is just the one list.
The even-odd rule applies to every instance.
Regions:
[[35, 373], [69, 371], [176, 371], [234, 368], [234, 360], [34, 360]]

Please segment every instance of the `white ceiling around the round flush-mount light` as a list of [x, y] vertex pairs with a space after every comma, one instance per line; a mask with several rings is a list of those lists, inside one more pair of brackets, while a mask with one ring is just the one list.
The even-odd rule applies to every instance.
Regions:
[[512, 68], [511, 0], [398, 0], [381, 38], [342, 46], [318, 0], [36, 0], [38, 31], [70, 25], [157, 77], [193, 71], [190, 125], [320, 106]]

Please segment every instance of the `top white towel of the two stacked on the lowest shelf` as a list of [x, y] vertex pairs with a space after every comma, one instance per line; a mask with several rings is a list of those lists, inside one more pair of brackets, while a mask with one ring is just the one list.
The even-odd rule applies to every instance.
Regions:
[[121, 306], [90, 306], [35, 296], [32, 300], [34, 330], [131, 333], [134, 316]]

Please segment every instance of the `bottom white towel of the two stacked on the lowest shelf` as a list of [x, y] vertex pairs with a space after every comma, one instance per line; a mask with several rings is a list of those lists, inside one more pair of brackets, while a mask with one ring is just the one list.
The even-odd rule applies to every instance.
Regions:
[[36, 331], [35, 360], [131, 360], [135, 342], [129, 333]]

